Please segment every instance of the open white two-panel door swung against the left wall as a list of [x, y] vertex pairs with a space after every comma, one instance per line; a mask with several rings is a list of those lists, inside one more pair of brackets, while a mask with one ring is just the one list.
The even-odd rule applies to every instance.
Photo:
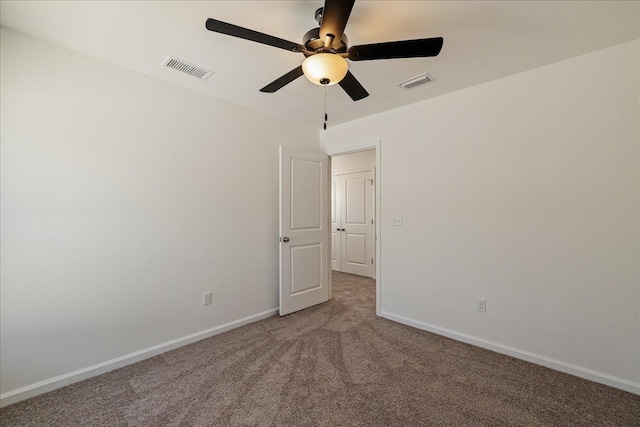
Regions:
[[329, 158], [280, 147], [280, 315], [329, 299]]

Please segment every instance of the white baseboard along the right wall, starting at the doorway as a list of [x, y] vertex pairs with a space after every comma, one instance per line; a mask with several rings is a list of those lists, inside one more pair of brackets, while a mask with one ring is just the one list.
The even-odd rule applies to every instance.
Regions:
[[640, 383], [625, 380], [624, 378], [614, 377], [613, 375], [605, 374], [603, 372], [594, 371], [592, 369], [583, 368], [582, 366], [574, 365], [560, 360], [555, 360], [550, 357], [542, 356], [539, 354], [531, 353], [529, 351], [520, 350], [507, 345], [498, 344], [496, 342], [488, 341], [482, 338], [474, 337], [472, 335], [463, 334], [460, 332], [452, 331], [451, 329], [441, 328], [439, 326], [430, 325], [418, 320], [409, 319], [404, 316], [398, 316], [386, 311], [381, 311], [378, 316], [385, 319], [393, 320], [394, 322], [402, 323], [404, 325], [413, 326], [414, 328], [422, 329], [425, 331], [433, 332], [434, 334], [442, 335], [447, 338], [454, 339], [456, 341], [462, 341], [467, 344], [482, 347], [487, 350], [495, 351], [496, 353], [506, 354], [518, 359], [526, 360], [537, 365], [542, 365], [556, 371], [564, 372], [566, 374], [575, 375], [576, 377], [584, 378], [590, 381], [594, 381], [600, 384], [608, 385], [618, 388], [620, 390], [628, 391], [630, 393], [640, 395]]

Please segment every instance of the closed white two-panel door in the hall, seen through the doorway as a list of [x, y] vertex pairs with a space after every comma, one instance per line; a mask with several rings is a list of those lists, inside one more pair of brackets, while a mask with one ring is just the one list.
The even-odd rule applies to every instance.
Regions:
[[373, 172], [342, 175], [342, 271], [374, 277]]

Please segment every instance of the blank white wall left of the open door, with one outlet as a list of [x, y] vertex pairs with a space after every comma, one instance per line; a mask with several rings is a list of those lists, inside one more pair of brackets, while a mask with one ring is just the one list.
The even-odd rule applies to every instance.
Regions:
[[316, 130], [0, 46], [2, 393], [277, 307], [277, 147]]

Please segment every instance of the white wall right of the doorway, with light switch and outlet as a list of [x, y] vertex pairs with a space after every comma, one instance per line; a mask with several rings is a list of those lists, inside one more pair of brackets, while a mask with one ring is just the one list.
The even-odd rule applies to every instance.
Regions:
[[320, 133], [382, 141], [383, 315], [640, 392], [638, 52]]

